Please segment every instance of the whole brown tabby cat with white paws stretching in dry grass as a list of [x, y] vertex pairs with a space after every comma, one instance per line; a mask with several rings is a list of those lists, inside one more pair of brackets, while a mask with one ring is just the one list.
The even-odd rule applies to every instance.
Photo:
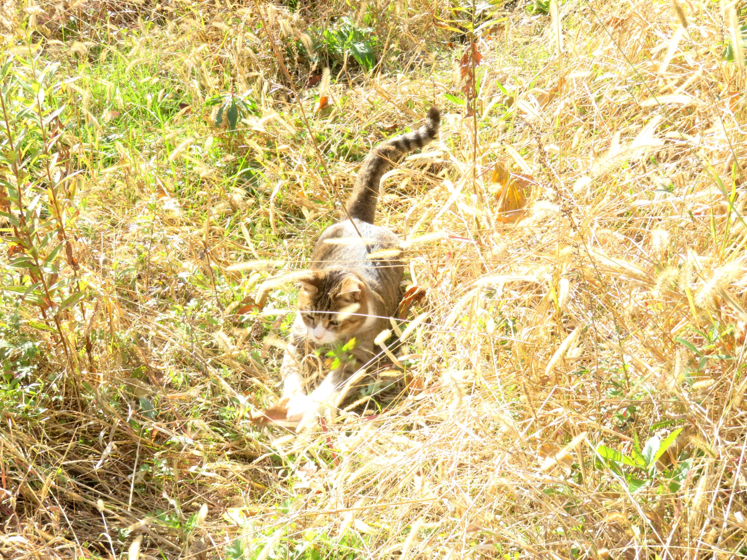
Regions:
[[[311, 254], [308, 274], [300, 279], [298, 313], [282, 362], [283, 398], [273, 407], [275, 414], [268, 409], [268, 416], [278, 419], [282, 414], [277, 411], [285, 411], [285, 420], [315, 417], [350, 373], [376, 357], [373, 341], [397, 310], [403, 277], [400, 239], [373, 225], [379, 182], [402, 155], [436, 138], [440, 122], [438, 110], [431, 108], [421, 128], [386, 140], [365, 158], [347, 202], [348, 216], [324, 231]], [[349, 352], [353, 359], [335, 367], [307, 394], [304, 360], [314, 349], [339, 348], [352, 338], [355, 342], [347, 346], [354, 346]]]

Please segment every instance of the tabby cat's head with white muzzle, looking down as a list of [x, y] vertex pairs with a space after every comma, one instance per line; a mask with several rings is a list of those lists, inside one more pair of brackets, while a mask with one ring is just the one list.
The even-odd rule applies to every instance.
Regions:
[[367, 317], [365, 283], [346, 271], [316, 271], [300, 279], [298, 312], [317, 344], [329, 344], [356, 332]]

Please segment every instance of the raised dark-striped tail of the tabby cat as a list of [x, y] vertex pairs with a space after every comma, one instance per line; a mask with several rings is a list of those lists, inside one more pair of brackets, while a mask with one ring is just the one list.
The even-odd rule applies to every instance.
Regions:
[[380, 143], [366, 156], [347, 202], [350, 217], [373, 223], [376, 215], [376, 202], [379, 199], [379, 182], [382, 176], [400, 157], [415, 149], [422, 148], [438, 136], [441, 113], [430, 108], [425, 124], [414, 132], [402, 134]]

